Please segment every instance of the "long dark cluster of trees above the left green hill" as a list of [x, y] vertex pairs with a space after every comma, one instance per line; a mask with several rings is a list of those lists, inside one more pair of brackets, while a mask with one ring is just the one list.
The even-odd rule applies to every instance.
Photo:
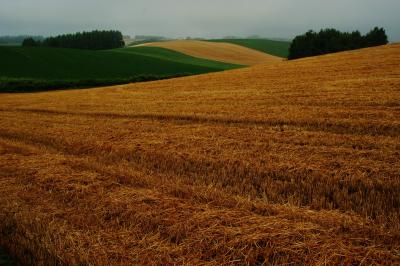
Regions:
[[55, 37], [49, 37], [43, 41], [27, 38], [23, 41], [22, 45], [105, 50], [123, 47], [125, 43], [120, 31], [95, 30], [91, 32], [78, 32], [75, 34], [64, 34]]

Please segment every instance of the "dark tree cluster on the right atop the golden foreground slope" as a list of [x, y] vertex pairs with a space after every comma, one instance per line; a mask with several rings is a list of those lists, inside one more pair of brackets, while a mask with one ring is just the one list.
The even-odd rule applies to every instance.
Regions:
[[340, 51], [372, 47], [388, 43], [383, 28], [375, 27], [366, 35], [359, 31], [340, 32], [335, 29], [324, 29], [320, 32], [308, 31], [292, 41], [289, 48], [289, 59], [322, 55]]

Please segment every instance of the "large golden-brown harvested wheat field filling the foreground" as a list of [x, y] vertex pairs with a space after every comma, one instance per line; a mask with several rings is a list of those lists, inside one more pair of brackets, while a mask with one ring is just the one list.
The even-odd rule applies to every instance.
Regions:
[[36, 265], [399, 265], [400, 45], [0, 95], [0, 246]]

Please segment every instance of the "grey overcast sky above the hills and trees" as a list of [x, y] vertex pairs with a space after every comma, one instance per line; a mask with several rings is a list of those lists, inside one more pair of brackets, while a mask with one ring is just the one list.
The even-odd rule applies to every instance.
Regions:
[[0, 35], [118, 29], [127, 35], [292, 38], [384, 27], [400, 41], [400, 0], [0, 0]]

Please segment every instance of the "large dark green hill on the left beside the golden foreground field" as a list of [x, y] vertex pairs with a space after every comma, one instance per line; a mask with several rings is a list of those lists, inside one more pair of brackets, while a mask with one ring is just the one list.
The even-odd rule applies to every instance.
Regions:
[[0, 46], [0, 91], [156, 80], [239, 68], [158, 47], [88, 51]]

